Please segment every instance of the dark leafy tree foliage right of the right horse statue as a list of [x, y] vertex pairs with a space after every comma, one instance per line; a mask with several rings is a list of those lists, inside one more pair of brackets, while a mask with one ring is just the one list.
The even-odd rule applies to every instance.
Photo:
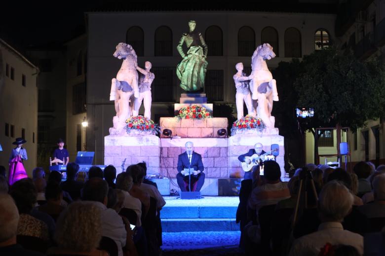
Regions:
[[378, 60], [361, 62], [330, 47], [305, 56], [302, 64], [305, 70], [294, 82], [298, 105], [316, 112], [306, 129], [356, 129], [383, 115], [385, 68]]

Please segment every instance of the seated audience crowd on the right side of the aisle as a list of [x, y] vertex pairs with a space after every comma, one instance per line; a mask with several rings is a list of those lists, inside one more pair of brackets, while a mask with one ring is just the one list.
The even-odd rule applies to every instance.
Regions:
[[[264, 162], [243, 180], [237, 222], [245, 255], [385, 255], [385, 166], [308, 164], [290, 181]], [[365, 239], [364, 239], [365, 238]]]

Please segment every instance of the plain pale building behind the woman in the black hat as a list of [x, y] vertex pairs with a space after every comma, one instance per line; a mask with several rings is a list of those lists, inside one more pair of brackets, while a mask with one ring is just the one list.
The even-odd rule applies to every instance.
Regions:
[[37, 160], [39, 69], [12, 46], [0, 39], [0, 165], [8, 168], [12, 142], [27, 140], [24, 167], [32, 176]]

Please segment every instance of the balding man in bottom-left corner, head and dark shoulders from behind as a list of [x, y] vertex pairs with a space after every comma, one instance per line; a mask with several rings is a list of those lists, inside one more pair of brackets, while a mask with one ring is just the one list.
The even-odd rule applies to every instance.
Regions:
[[43, 256], [43, 254], [25, 250], [16, 244], [19, 225], [19, 212], [9, 194], [0, 192], [0, 255], [1, 256]]

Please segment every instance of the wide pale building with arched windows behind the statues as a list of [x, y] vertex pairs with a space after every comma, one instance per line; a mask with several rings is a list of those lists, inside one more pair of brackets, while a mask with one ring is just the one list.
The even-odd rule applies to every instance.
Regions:
[[[276, 58], [268, 61], [275, 68], [281, 61], [302, 58], [319, 45], [333, 40], [334, 14], [285, 12], [89, 12], [87, 17], [86, 146], [95, 151], [96, 163], [103, 163], [104, 136], [109, 135], [115, 115], [109, 100], [111, 79], [116, 77], [121, 61], [112, 56], [119, 42], [133, 46], [139, 66], [153, 65], [152, 119], [173, 116], [173, 104], [183, 92], [176, 76], [181, 61], [176, 46], [188, 22], [195, 20], [208, 45], [205, 92], [209, 102], [233, 104], [232, 79], [235, 64], [242, 62], [251, 72], [251, 56], [261, 43], [273, 46]], [[322, 34], [323, 37], [319, 36]], [[320, 40], [323, 40], [322, 42]], [[318, 45], [318, 46], [317, 46]], [[185, 49], [186, 51], [186, 49]], [[279, 94], [279, 85], [277, 85]], [[140, 114], [143, 109], [140, 110]], [[78, 122], [78, 120], [77, 120]], [[68, 122], [68, 130], [77, 123]]]

